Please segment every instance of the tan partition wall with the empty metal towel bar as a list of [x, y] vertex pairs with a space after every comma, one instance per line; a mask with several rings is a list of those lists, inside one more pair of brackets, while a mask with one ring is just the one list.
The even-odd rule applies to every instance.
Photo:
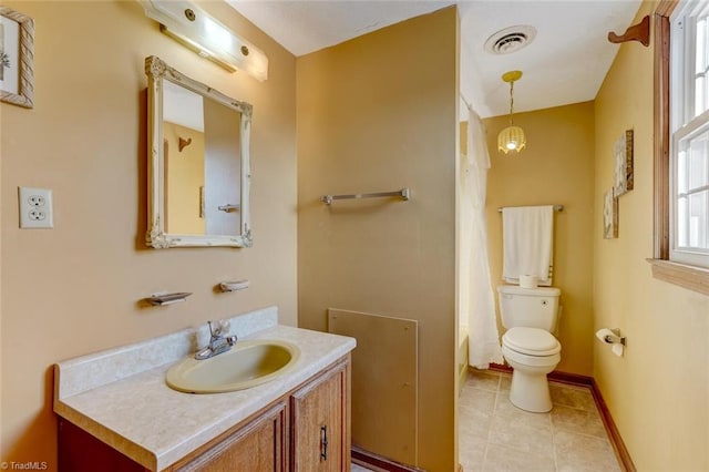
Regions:
[[[326, 330], [329, 307], [419, 320], [418, 465], [452, 471], [456, 10], [297, 63], [299, 322]], [[409, 202], [319, 202], [404, 186]]]

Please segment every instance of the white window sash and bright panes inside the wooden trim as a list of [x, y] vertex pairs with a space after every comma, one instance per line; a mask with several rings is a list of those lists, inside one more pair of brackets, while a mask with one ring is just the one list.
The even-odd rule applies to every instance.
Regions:
[[709, 267], [709, 2], [670, 25], [670, 260]]

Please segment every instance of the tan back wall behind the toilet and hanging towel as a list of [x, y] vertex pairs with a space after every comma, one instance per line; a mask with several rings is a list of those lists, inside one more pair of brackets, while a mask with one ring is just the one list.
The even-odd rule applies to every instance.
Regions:
[[[521, 86], [518, 93], [523, 93]], [[556, 370], [593, 373], [594, 104], [515, 113], [527, 146], [521, 154], [497, 151], [497, 134], [510, 117], [484, 121], [492, 167], [487, 175], [487, 235], [493, 287], [502, 284], [502, 206], [564, 205], [554, 214], [554, 287], [562, 290]], [[496, 291], [495, 291], [496, 298]], [[501, 334], [504, 330], [501, 328]]]

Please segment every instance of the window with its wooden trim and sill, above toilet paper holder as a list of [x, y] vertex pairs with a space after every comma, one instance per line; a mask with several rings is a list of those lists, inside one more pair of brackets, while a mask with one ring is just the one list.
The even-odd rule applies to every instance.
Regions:
[[709, 1], [660, 0], [654, 31], [653, 275], [709, 295]]

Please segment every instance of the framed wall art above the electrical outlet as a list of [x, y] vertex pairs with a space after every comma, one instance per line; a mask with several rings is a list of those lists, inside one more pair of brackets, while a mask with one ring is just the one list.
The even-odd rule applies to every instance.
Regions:
[[0, 101], [31, 109], [34, 88], [34, 21], [0, 7]]

